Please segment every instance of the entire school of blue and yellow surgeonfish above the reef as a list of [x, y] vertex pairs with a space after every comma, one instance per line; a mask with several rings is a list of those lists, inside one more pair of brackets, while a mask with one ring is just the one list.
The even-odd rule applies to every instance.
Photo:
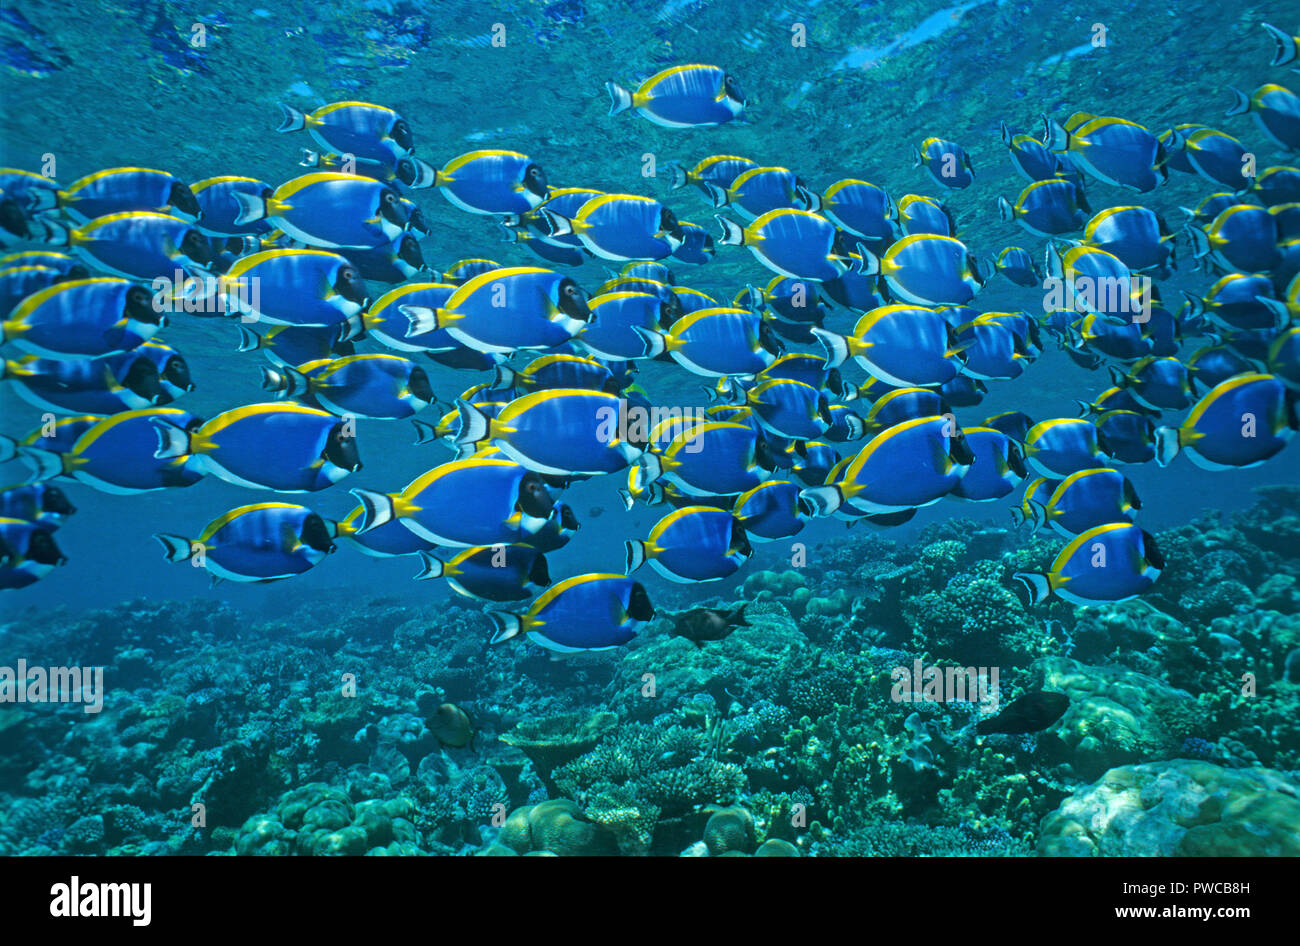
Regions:
[[[1300, 39], [1265, 29], [1270, 65], [1294, 64]], [[606, 91], [611, 116], [664, 129], [745, 121], [740, 82], [716, 66]], [[1227, 114], [1249, 113], [1270, 147], [1300, 155], [1300, 96], [1277, 83], [1232, 96]], [[356, 486], [339, 521], [252, 503], [192, 535], [159, 534], [164, 554], [242, 582], [302, 574], [341, 543], [413, 556], [419, 580], [520, 603], [490, 612], [493, 642], [526, 635], [572, 652], [625, 643], [655, 616], [633, 577], [645, 565], [719, 581], [754, 543], [792, 539], [812, 518], [888, 528], [944, 498], [994, 503], [1020, 490], [1013, 520], [1066, 542], [1049, 570], [1015, 576], [1026, 599], [1113, 602], [1149, 589], [1165, 565], [1136, 524], [1124, 465], [1183, 454], [1214, 470], [1254, 467], [1300, 426], [1300, 166], [1256, 169], [1252, 151], [1213, 127], [1153, 133], [1082, 112], [1044, 117], [1036, 136], [1004, 123], [1026, 186], [987, 207], [1032, 244], [975, 252], [942, 201], [896, 200], [867, 181], [819, 191], [734, 155], [673, 165], [671, 188], [698, 191], [701, 213], [715, 216], [706, 226], [654, 196], [554, 186], [555, 169], [520, 152], [434, 168], [416, 156], [412, 123], [382, 105], [281, 108], [278, 131], [312, 147], [306, 173], [278, 186], [186, 183], [148, 168], [62, 186], [0, 169], [3, 379], [57, 417], [0, 439], [0, 460], [30, 468], [0, 492], [0, 589], [64, 564], [56, 531], [75, 512], [70, 481], [136, 494], [211, 476], [317, 492], [358, 478], [360, 428], [411, 418], [417, 443], [454, 456], [404, 486]], [[942, 187], [979, 186], [954, 142], [927, 138], [913, 159]], [[1171, 173], [1206, 190], [1180, 230], [1139, 203]], [[1134, 196], [1093, 209], [1096, 183]], [[433, 208], [415, 200], [426, 190], [452, 213], [493, 218], [537, 265], [430, 268], [420, 240]], [[741, 247], [772, 278], [731, 299], [680, 285], [670, 268]], [[592, 257], [618, 274], [594, 287], [564, 274]], [[1156, 281], [1176, 265], [1213, 285], [1167, 305]], [[1054, 304], [975, 308], [996, 274], [1052, 288]], [[833, 312], [857, 318], [852, 331], [824, 327]], [[196, 382], [160, 335], [205, 316], [231, 322], [240, 352], [263, 352], [264, 403], [212, 417], [173, 405]], [[1020, 377], [1044, 339], [1110, 386], [1080, 399], [1078, 416], [1011, 411], [958, 425], [954, 408]], [[647, 360], [679, 383], [702, 379], [712, 405], [656, 407], [636, 382]], [[841, 376], [849, 361], [864, 383]], [[436, 420], [417, 417], [434, 407]], [[546, 555], [578, 528], [558, 496], [598, 476], [628, 508], [666, 513], [627, 542], [621, 568], [552, 583]], [[742, 624], [742, 611], [699, 609], [673, 633], [703, 646]]]

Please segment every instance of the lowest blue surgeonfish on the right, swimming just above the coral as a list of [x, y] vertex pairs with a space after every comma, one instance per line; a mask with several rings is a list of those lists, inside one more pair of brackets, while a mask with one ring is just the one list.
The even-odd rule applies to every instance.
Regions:
[[1028, 603], [1056, 595], [1071, 604], [1123, 602], [1156, 583], [1165, 559], [1156, 539], [1132, 522], [1108, 522], [1067, 544], [1046, 573], [1017, 572]]

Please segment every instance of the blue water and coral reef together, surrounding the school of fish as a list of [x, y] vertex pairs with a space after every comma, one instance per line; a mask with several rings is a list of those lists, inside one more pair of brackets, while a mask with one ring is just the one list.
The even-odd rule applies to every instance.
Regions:
[[[307, 173], [302, 148], [316, 147], [302, 131], [276, 133], [280, 103], [312, 112], [360, 100], [400, 113], [416, 156], [434, 168], [477, 149], [524, 152], [552, 187], [653, 196], [715, 239], [718, 211], [699, 188], [670, 186], [671, 162], [740, 155], [793, 170], [816, 194], [858, 178], [894, 201], [928, 195], [982, 259], [1018, 246], [1037, 262], [1048, 240], [998, 212], [1000, 196], [1014, 203], [1028, 183], [1001, 122], [1032, 135], [1040, 116], [1063, 123], [1076, 112], [1153, 134], [1204, 123], [1239, 139], [1261, 170], [1294, 165], [1297, 146], [1271, 140], [1257, 114], [1225, 116], [1232, 87], [1296, 84], [1294, 62], [1270, 66], [1279, 42], [1265, 22], [1295, 30], [1300, 6], [14, 3], [0, 14], [0, 165], [40, 173], [53, 161], [62, 186], [140, 166], [190, 183], [238, 174], [277, 187]], [[745, 121], [663, 127], [610, 114], [606, 82], [636, 90], [682, 64], [736, 77]], [[968, 187], [914, 165], [913, 146], [931, 136], [970, 156]], [[1170, 224], [1176, 262], [1157, 285], [1179, 320], [1196, 308], [1183, 294], [1202, 300], [1232, 272], [1197, 259], [1180, 208], [1234, 188], [1192, 168], [1141, 194], [1095, 174], [1084, 186], [1092, 212], [1139, 204]], [[1240, 203], [1266, 203], [1244, 188]], [[432, 273], [464, 259], [554, 266], [594, 298], [624, 265], [590, 255], [551, 264], [504, 242], [493, 216], [434, 188], [398, 190], [429, 222], [419, 243]], [[1300, 235], [1294, 217], [1286, 226]], [[772, 279], [746, 248], [716, 242], [703, 265], [663, 260], [677, 286], [725, 307]], [[979, 312], [1043, 317], [1041, 285], [984, 275], [970, 303]], [[389, 288], [372, 282], [370, 295]], [[1275, 287], [1290, 320], [1300, 314], [1295, 288]], [[826, 308], [824, 329], [854, 331], [861, 311]], [[211, 418], [272, 400], [261, 372], [272, 361], [238, 351], [237, 321], [176, 313], [161, 329], [194, 381], [177, 407]], [[1174, 356], [1183, 364], [1232, 340], [1219, 322], [1186, 327]], [[824, 351], [811, 337], [784, 344]], [[1002, 412], [1076, 417], [1076, 402], [1114, 386], [1110, 368], [1123, 378], [1136, 363], [1089, 363], [1079, 357], [1088, 339], [1069, 331], [1044, 331], [1040, 348], [1023, 356], [1023, 374], [988, 379], [974, 403], [954, 405], [961, 426]], [[387, 350], [370, 338], [356, 351]], [[6, 343], [0, 353], [0, 434], [21, 441], [46, 412], [14, 392], [8, 364], [26, 352]], [[537, 353], [508, 364], [521, 370]], [[650, 403], [716, 403], [706, 394], [716, 378], [672, 360], [636, 364]], [[1268, 356], [1245, 365], [1283, 377], [1286, 366]], [[850, 387], [871, 377], [852, 360], [840, 370]], [[494, 376], [429, 361], [428, 377], [437, 404], [419, 418], [433, 425]], [[1154, 422], [1176, 428], [1210, 387]], [[829, 399], [867, 415], [880, 392]], [[805, 508], [797, 534], [755, 542], [718, 581], [640, 568], [654, 619], [624, 645], [563, 659], [523, 637], [489, 646], [489, 612], [523, 612], [528, 599], [415, 582], [416, 556], [363, 555], [341, 539], [291, 580], [214, 583], [203, 568], [166, 561], [152, 538], [198, 537], [260, 502], [343, 520], [358, 507], [350, 489], [396, 492], [454, 457], [445, 443], [413, 439], [406, 420], [358, 421], [361, 468], [318, 492], [207, 474], [117, 495], [57, 478], [75, 505], [56, 533], [66, 563], [0, 590], [0, 667], [100, 667], [103, 706], [0, 703], [0, 854], [1300, 854], [1295, 446], [1248, 468], [1208, 470], [1186, 455], [1119, 467], [1164, 563], [1126, 600], [1027, 600], [1014, 576], [1052, 572], [1069, 539], [1013, 524], [1017, 485], [994, 502], [945, 496], [892, 528], [846, 528]], [[866, 444], [831, 446], [850, 457]], [[790, 457], [774, 478], [793, 479]], [[30, 474], [22, 457], [0, 465], [5, 485]], [[621, 574], [624, 543], [672, 511], [644, 498], [625, 508], [627, 486], [625, 470], [550, 483], [581, 526], [546, 554], [552, 582]], [[465, 515], [473, 508], [467, 495]], [[679, 633], [688, 611], [725, 617], [742, 603], [744, 624], [719, 639]], [[593, 626], [610, 620], [597, 606], [590, 613]], [[901, 680], [936, 667], [971, 668], [996, 693], [983, 706], [900, 699]], [[1035, 699], [1043, 693], [1067, 700], [1053, 715]], [[976, 730], [1018, 698], [1019, 716], [1001, 726], [1010, 732]]]

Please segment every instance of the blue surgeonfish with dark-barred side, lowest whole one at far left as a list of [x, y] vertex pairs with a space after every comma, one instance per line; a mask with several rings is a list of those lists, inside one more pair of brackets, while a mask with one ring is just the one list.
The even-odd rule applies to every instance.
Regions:
[[157, 533], [168, 561], [202, 564], [214, 580], [292, 578], [334, 551], [333, 524], [303, 505], [255, 503], [208, 522], [195, 539]]

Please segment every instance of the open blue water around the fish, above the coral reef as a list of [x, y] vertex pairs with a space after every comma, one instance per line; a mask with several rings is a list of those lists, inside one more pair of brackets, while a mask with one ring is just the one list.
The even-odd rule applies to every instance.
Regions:
[[[670, 191], [662, 177], [642, 177], [646, 155], [653, 155], [660, 168], [672, 160], [690, 166], [711, 153], [745, 155], [759, 164], [794, 169], [816, 190], [854, 177], [885, 186], [896, 199], [909, 192], [937, 196], [952, 209], [958, 235], [972, 249], [996, 255], [1002, 247], [1015, 244], [1039, 257], [1044, 242], [1004, 224], [994, 207], [997, 196], [1014, 200], [1024, 183], [1015, 175], [998, 138], [1001, 121], [1026, 133], [1036, 133], [1041, 114], [1063, 121], [1075, 110], [1121, 116], [1154, 133], [1174, 123], [1204, 122], [1236, 135], [1247, 148], [1257, 151], [1261, 166], [1286, 164], [1277, 156], [1277, 146], [1262, 138], [1249, 117], [1223, 117], [1223, 110], [1231, 104], [1228, 86], [1251, 90], [1266, 81], [1295, 86], [1295, 75], [1287, 69], [1269, 68], [1271, 42], [1258, 23], [1294, 27], [1300, 22], [1300, 5], [1284, 3], [1226, 12], [1213, 3], [1182, 3], [1166, 9], [1095, 0], [975, 0], [948, 6], [924, 1], [814, 0], [759, 8], [738, 0], [666, 4], [562, 0], [495, 6], [416, 0], [321, 5], [291, 0], [264, 6], [225, 3], [220, 8], [195, 9], [205, 12], [195, 18], [181, 5], [139, 0], [110, 9], [84, 3], [13, 3], [0, 19], [0, 96], [5, 103], [0, 107], [0, 165], [36, 169], [52, 156], [61, 182], [100, 168], [136, 164], [170, 170], [182, 181], [247, 174], [278, 185], [300, 173], [295, 165], [298, 148], [308, 140], [306, 135], [274, 133], [277, 103], [308, 110], [329, 101], [359, 99], [382, 103], [406, 116], [415, 130], [417, 153], [433, 165], [441, 166], [471, 149], [517, 149], [547, 169], [551, 185], [651, 195], [681, 218], [711, 231], [715, 230], [712, 209], [694, 188]], [[502, 48], [491, 44], [497, 23], [506, 31]], [[805, 47], [790, 43], [796, 23], [806, 29]], [[1105, 26], [1105, 47], [1091, 44], [1093, 23]], [[204, 43], [195, 45], [190, 40], [199, 32]], [[749, 96], [749, 122], [672, 130], [629, 114], [607, 114], [606, 81], [634, 87], [638, 79], [682, 62], [716, 62], [740, 77]], [[924, 170], [911, 166], [910, 147], [930, 135], [959, 142], [967, 149], [978, 175], [971, 188], [945, 190]], [[1167, 185], [1145, 195], [1093, 182], [1089, 199], [1095, 211], [1140, 203], [1180, 225], [1183, 214], [1178, 208], [1195, 205], [1216, 190], [1219, 188], [1195, 175], [1174, 174]], [[462, 213], [433, 191], [410, 196], [433, 222], [432, 235], [421, 243], [430, 266], [446, 266], [471, 256], [506, 265], [534, 264], [526, 248], [498, 242], [490, 218]], [[1183, 291], [1200, 295], [1212, 282], [1205, 272], [1193, 272], [1187, 265], [1190, 255], [1183, 248], [1180, 256], [1176, 273], [1160, 283], [1170, 308]], [[710, 292], [719, 300], [729, 300], [746, 283], [763, 285], [771, 278], [749, 252], [733, 247], [720, 247], [716, 257], [703, 266], [672, 260], [668, 264], [679, 285]], [[608, 277], [611, 265], [588, 260], [571, 274], [592, 290]], [[1041, 291], [1019, 288], [994, 277], [974, 304], [982, 311], [1039, 312]], [[835, 325], [846, 331], [853, 318], [841, 312]], [[186, 356], [196, 383], [196, 390], [178, 402], [178, 407], [211, 417], [265, 399], [259, 370], [263, 356], [235, 351], [234, 325], [181, 316], [160, 338]], [[1182, 356], [1201, 343], [1190, 340]], [[374, 343], [364, 350], [381, 351]], [[17, 357], [12, 350], [5, 356]], [[520, 357], [515, 364], [526, 360]], [[855, 382], [866, 378], [857, 366], [848, 366], [845, 373]], [[421, 420], [434, 422], [455, 395], [486, 378], [436, 369], [432, 379], [442, 404], [428, 409]], [[676, 365], [649, 365], [640, 383], [656, 402], [707, 403], [702, 385], [708, 382]], [[1074, 399], [1088, 399], [1108, 386], [1104, 372], [1087, 372], [1056, 344], [1048, 344], [1023, 377], [989, 382], [984, 402], [961, 408], [957, 415], [967, 425], [1009, 409], [1024, 411], [1036, 420], [1072, 416]], [[0, 385], [0, 433], [8, 435], [21, 435], [40, 422], [40, 412], [14, 396], [8, 385]], [[1162, 422], [1170, 420], [1176, 418], [1170, 415]], [[347, 489], [396, 491], [450, 456], [441, 444], [412, 446], [412, 439], [406, 421], [363, 422], [359, 446], [364, 468], [330, 490], [286, 502], [300, 502], [328, 518], [341, 518], [355, 507]], [[845, 455], [857, 448], [841, 447]], [[1167, 469], [1147, 464], [1127, 467], [1124, 473], [1143, 498], [1143, 528], [1158, 533], [1187, 525], [1201, 511], [1230, 516], [1248, 509], [1256, 502], [1256, 487], [1300, 485], [1297, 450], [1292, 443], [1266, 464], [1243, 470], [1210, 473], [1179, 457]], [[17, 463], [0, 468], [3, 481], [18, 482], [22, 476]], [[552, 577], [621, 570], [624, 541], [644, 538], [667, 508], [638, 504], [624, 509], [616, 494], [623, 485], [623, 476], [616, 474], [580, 482], [564, 491], [563, 498], [582, 528], [566, 548], [550, 556]], [[246, 612], [240, 620], [250, 626], [277, 617], [290, 634], [294, 629], [318, 629], [304, 624], [328, 622], [330, 608], [347, 608], [350, 603], [360, 608], [374, 599], [417, 609], [430, 625], [437, 625], [439, 609], [451, 599], [456, 606], [477, 608], [456, 599], [442, 582], [412, 582], [411, 576], [417, 570], [413, 559], [374, 559], [347, 547], [291, 581], [211, 586], [202, 569], [168, 564], [151, 535], [196, 535], [204, 524], [229, 508], [273, 498], [216, 477], [205, 477], [185, 490], [133, 496], [107, 495], [81, 483], [66, 485], [66, 491], [78, 507], [77, 515], [57, 533], [69, 561], [31, 587], [0, 593], [0, 624], [6, 624], [10, 633], [44, 626], [47, 621], [68, 626], [81, 612], [129, 600], [155, 606], [226, 603]], [[1008, 509], [1018, 495], [1017, 491], [1005, 500], [979, 505], [945, 499], [922, 509], [906, 526], [889, 531], [888, 538], [909, 547], [927, 529], [926, 534], [933, 537], [936, 524], [954, 517], [974, 518], [1001, 530], [1009, 524]], [[962, 528], [974, 531], [982, 525]], [[862, 526], [848, 531], [833, 520], [815, 521], [798, 541], [809, 548], [841, 548], [848, 554], [867, 548], [853, 544], [862, 541]], [[871, 552], [861, 555], [867, 560]], [[722, 582], [677, 586], [649, 569], [637, 577], [651, 599], [684, 608], [706, 600], [738, 602], [746, 596], [741, 586], [748, 578], [762, 569], [784, 570], [789, 560], [789, 543], [777, 542], [759, 546], [738, 574]], [[1284, 568], [1295, 573], [1294, 550]], [[853, 595], [862, 593], [853, 583], [857, 580], [832, 576], [827, 581], [829, 585], [842, 581]], [[324, 602], [330, 603], [328, 608], [320, 607]], [[58, 609], [56, 617], [51, 619], [55, 609]], [[1053, 613], [1061, 617], [1065, 612]], [[1209, 620], [1202, 621], [1206, 628]], [[254, 637], [265, 633], [263, 629]], [[663, 633], [662, 626], [658, 633]], [[4, 639], [0, 635], [0, 664], [14, 650], [5, 647]], [[900, 641], [876, 643], [901, 646]], [[833, 645], [822, 641], [818, 646], [829, 651], [858, 648], [842, 639]], [[525, 645], [510, 647], [491, 658], [502, 673], [510, 673], [511, 663], [521, 661], [526, 652]], [[1113, 656], [1102, 651], [1098, 664], [1102, 654]], [[202, 647], [191, 656], [202, 660]], [[1124, 664], [1123, 656], [1118, 655], [1119, 664]], [[161, 647], [157, 659], [164, 660]], [[612, 659], [618, 661], [621, 656]], [[906, 663], [910, 664], [910, 652]], [[1138, 663], [1128, 665], [1136, 668]], [[1013, 669], [1004, 673], [1009, 676]], [[1169, 667], [1149, 663], [1141, 664], [1141, 669], [1162, 680], [1174, 673]], [[536, 663], [519, 665], [515, 672], [542, 677], [560, 673], [555, 680], [564, 680], [563, 672], [540, 669]], [[482, 708], [478, 712], [490, 717], [488, 728], [497, 734], [510, 730], [520, 717], [564, 708], [538, 703], [520, 707], [519, 713], [502, 713], [497, 704], [508, 702], [510, 691], [503, 680], [489, 684], [485, 678], [480, 693], [458, 699], [471, 717], [476, 716], [476, 699], [491, 703], [490, 712]], [[779, 694], [770, 698], [780, 702]], [[594, 712], [608, 707], [602, 693], [590, 689], [575, 691], [568, 708]], [[901, 732], [904, 716], [900, 715], [893, 730]], [[42, 719], [46, 733], [75, 722], [61, 722], [64, 716]], [[234, 717], [228, 722], [233, 732]], [[0, 739], [12, 732], [0, 730]], [[499, 750], [491, 733], [480, 745], [495, 745]], [[1213, 741], [1222, 733], [1204, 735]], [[225, 737], [213, 738], [220, 742]], [[772, 739], [772, 745], [780, 743], [779, 738]], [[8, 748], [18, 752], [13, 746]], [[22, 750], [26, 755], [16, 759], [22, 765], [32, 764], [30, 751], [27, 746]], [[1032, 754], [1014, 758], [1014, 764], [1026, 771], [1037, 764]], [[1286, 759], [1294, 755], [1279, 758], [1282, 768]], [[1139, 756], [1131, 761], [1147, 760]], [[303, 782], [330, 781], [322, 774], [329, 761], [317, 758], [304, 764], [286, 790]], [[471, 763], [462, 760], [462, 764]], [[147, 767], [144, 772], [150, 774]], [[1067, 791], [1092, 781], [1078, 772], [1061, 777], [1063, 781], [1058, 784]], [[34, 793], [31, 785], [20, 784], [8, 785], [8, 790], [13, 797]], [[757, 778], [750, 780], [750, 790], [758, 790]], [[280, 795], [269, 789], [259, 793], [248, 799], [246, 813], [269, 811]], [[554, 790], [550, 794], [555, 797]], [[701, 798], [699, 803], [714, 800], [744, 804], [745, 797]], [[1052, 807], [1044, 803], [1044, 811]], [[55, 824], [60, 819], [66, 821], [64, 815], [49, 815], [48, 826], [65, 826]], [[823, 820], [828, 817], [823, 815]], [[941, 820], [931, 815], [928, 823]], [[992, 821], [997, 823], [997, 816]], [[844, 832], [852, 834], [849, 828]], [[1019, 832], [1013, 833], [1020, 837]], [[425, 847], [468, 851], [488, 846], [491, 837], [489, 832], [478, 843], [462, 838], [446, 850]], [[1032, 832], [1026, 837], [1032, 846]], [[14, 851], [30, 849], [31, 842], [30, 837], [9, 839]], [[230, 836], [222, 836], [208, 850], [229, 849], [230, 842]], [[805, 850], [810, 845], [802, 842]], [[47, 845], [44, 850], [58, 849]], [[664, 847], [654, 850], [670, 852]]]

